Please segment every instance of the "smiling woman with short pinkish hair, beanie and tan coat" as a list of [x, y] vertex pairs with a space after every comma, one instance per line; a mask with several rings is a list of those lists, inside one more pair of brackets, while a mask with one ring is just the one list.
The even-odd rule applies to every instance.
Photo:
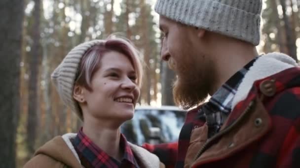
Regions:
[[25, 168], [164, 167], [120, 133], [120, 125], [133, 117], [142, 80], [142, 65], [131, 43], [109, 37], [80, 44], [51, 78], [83, 127], [77, 134], [48, 141]]

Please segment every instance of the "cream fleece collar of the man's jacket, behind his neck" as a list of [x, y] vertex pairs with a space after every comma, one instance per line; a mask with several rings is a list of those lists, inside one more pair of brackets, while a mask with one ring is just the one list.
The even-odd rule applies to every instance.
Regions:
[[282, 53], [269, 53], [260, 56], [246, 73], [242, 83], [232, 100], [231, 109], [242, 100], [245, 100], [255, 81], [279, 73], [283, 70], [299, 67], [296, 61]]

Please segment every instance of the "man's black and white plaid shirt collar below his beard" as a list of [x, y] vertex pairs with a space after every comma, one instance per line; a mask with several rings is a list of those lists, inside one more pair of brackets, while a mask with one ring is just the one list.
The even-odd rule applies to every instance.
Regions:
[[[202, 106], [199, 111], [203, 111], [208, 126], [208, 138], [219, 132], [221, 126], [231, 112], [232, 99], [236, 90], [241, 84], [249, 68], [258, 57], [250, 61], [240, 71], [236, 72], [225, 84], [223, 84], [216, 93], [209, 99], [208, 103]], [[201, 112], [199, 112], [201, 113]]]

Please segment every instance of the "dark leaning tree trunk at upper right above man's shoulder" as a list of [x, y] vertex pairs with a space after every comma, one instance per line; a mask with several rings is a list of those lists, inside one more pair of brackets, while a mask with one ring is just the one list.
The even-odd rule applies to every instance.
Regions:
[[293, 33], [292, 33], [293, 30], [291, 28], [289, 18], [286, 15], [285, 0], [280, 0], [280, 3], [281, 3], [281, 6], [282, 6], [283, 20], [284, 20], [284, 27], [285, 27], [285, 32], [286, 32], [286, 39], [287, 39], [287, 46], [288, 46], [288, 50], [289, 50], [289, 55], [298, 62], [296, 41], [293, 40]]

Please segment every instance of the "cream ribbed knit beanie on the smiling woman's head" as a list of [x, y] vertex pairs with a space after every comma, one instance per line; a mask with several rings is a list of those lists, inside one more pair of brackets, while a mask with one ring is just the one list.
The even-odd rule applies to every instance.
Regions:
[[52, 82], [56, 86], [60, 98], [63, 100], [66, 106], [70, 107], [71, 110], [79, 116], [81, 120], [83, 120], [81, 110], [73, 98], [75, 77], [79, 68], [80, 60], [85, 52], [89, 48], [102, 42], [105, 41], [93, 40], [79, 44], [68, 53], [60, 65], [58, 65], [58, 67], [51, 74]]

